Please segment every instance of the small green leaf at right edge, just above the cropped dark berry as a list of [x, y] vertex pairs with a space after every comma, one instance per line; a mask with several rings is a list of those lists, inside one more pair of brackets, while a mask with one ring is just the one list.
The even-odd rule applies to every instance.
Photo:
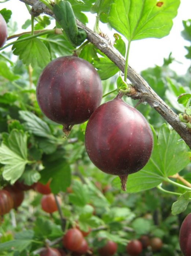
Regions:
[[187, 191], [182, 194], [178, 200], [172, 204], [172, 214], [176, 215], [179, 213], [183, 213], [186, 210], [188, 203], [190, 203], [191, 191]]

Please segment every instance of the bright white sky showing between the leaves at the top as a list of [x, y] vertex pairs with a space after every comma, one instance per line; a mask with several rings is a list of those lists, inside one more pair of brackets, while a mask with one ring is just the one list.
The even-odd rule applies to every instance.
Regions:
[[[19, 0], [10, 0], [0, 4], [0, 9], [3, 8], [12, 10], [12, 20], [18, 23], [18, 27], [21, 27], [25, 20], [30, 19], [25, 4]], [[162, 39], [148, 38], [133, 41], [129, 53], [129, 64], [133, 69], [140, 72], [148, 67], [161, 66], [164, 57], [168, 58], [172, 52], [172, 57], [176, 59], [176, 62], [173, 62], [170, 67], [178, 74], [185, 74], [191, 62], [184, 57], [187, 54], [184, 46], [190, 46], [190, 42], [181, 37], [181, 31], [183, 30], [182, 20], [188, 19], [191, 19], [191, 0], [181, 0], [178, 14], [173, 19], [173, 27], [168, 36]], [[95, 15], [89, 20], [91, 23], [88, 27], [93, 29]], [[104, 34], [111, 34], [105, 24], [100, 25], [100, 28]], [[22, 30], [18, 32], [22, 32]]]

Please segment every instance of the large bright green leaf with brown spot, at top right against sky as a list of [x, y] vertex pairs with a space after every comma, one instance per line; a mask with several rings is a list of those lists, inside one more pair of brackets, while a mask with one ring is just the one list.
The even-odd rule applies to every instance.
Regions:
[[114, 0], [109, 23], [128, 41], [143, 38], [162, 38], [169, 34], [172, 19], [177, 15], [180, 0]]

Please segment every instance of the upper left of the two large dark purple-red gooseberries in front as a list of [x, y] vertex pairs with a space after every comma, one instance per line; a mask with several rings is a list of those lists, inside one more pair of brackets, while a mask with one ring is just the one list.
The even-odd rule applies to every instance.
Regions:
[[58, 57], [42, 71], [36, 89], [38, 105], [49, 119], [71, 126], [88, 120], [102, 100], [100, 77], [91, 63], [75, 56]]

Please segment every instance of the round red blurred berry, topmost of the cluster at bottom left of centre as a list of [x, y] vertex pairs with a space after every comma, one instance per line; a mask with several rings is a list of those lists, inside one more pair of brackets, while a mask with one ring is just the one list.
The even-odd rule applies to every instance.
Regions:
[[77, 228], [70, 228], [63, 236], [63, 246], [72, 252], [78, 250], [84, 240], [84, 236]]

